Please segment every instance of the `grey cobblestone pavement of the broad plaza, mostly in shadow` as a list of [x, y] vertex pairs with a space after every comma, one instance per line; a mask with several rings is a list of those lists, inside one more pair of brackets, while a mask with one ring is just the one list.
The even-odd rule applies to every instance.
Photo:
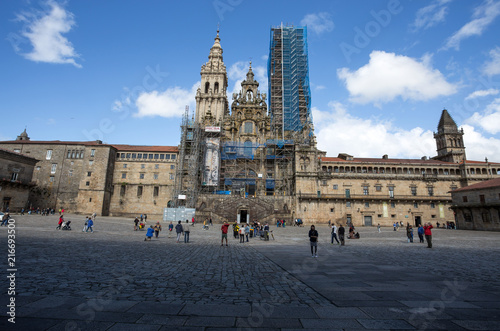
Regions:
[[[98, 217], [90, 233], [78, 215], [72, 231], [14, 218], [16, 324], [2, 330], [500, 329], [500, 233], [435, 229], [427, 249], [360, 228], [341, 247], [320, 225], [312, 258], [307, 225], [221, 247], [220, 225], [191, 227], [185, 244], [164, 222], [145, 242], [132, 219]], [[7, 228], [0, 238], [6, 307]]]

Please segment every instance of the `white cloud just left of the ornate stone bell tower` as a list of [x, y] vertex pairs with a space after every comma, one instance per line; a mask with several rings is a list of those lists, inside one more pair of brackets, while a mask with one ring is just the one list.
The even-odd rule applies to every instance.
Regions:
[[[134, 114], [134, 117], [180, 117], [184, 114], [186, 105], [190, 106], [190, 109], [194, 109], [198, 87], [199, 83], [195, 83], [190, 90], [176, 86], [163, 92], [143, 92], [135, 101], [138, 112]], [[115, 101], [114, 106], [122, 107], [123, 104], [120, 101]]]

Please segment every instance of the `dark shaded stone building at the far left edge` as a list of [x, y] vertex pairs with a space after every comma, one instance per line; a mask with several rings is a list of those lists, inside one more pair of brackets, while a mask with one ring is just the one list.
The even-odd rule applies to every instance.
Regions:
[[29, 200], [33, 170], [38, 160], [0, 149], [0, 201], [2, 212], [19, 212]]

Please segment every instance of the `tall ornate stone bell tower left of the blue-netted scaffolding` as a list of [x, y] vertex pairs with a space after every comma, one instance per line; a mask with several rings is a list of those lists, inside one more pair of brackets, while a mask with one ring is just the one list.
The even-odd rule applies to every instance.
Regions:
[[227, 101], [227, 72], [222, 59], [219, 30], [208, 55], [201, 66], [201, 86], [196, 92], [196, 121], [203, 126], [221, 126], [229, 114]]

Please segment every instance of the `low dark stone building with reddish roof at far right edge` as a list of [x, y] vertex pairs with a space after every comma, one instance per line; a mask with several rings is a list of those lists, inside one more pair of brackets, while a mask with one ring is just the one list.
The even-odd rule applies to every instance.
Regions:
[[459, 229], [500, 231], [500, 178], [451, 192]]

